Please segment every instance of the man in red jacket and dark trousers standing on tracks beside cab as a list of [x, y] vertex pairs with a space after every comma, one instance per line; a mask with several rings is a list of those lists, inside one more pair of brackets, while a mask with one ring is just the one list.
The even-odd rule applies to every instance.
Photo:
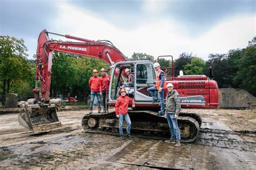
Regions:
[[102, 83], [102, 92], [100, 92], [100, 95], [102, 95], [103, 100], [103, 112], [109, 112], [109, 104], [106, 102], [107, 100], [107, 94], [109, 93], [109, 82], [110, 82], [110, 76], [106, 74], [106, 70], [104, 68], [100, 69], [100, 73], [102, 76], [100, 77], [100, 82]]

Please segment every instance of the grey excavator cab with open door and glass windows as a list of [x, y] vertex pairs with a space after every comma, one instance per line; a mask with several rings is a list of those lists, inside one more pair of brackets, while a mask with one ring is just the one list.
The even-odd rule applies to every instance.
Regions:
[[[126, 68], [129, 68], [130, 74], [134, 76], [134, 81], [129, 86], [124, 85], [124, 82], [128, 82], [129, 79], [125, 73]], [[118, 62], [114, 65], [110, 74], [110, 105], [116, 102], [122, 88], [126, 89], [126, 95], [133, 98], [134, 101], [151, 104], [152, 97], [148, 93], [147, 88], [154, 86], [156, 77], [156, 72], [151, 61], [131, 60]]]

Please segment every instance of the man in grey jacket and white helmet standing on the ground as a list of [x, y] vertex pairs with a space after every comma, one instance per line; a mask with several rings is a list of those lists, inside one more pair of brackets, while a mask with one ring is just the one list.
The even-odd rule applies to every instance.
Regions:
[[[177, 118], [180, 112], [180, 98], [179, 93], [173, 88], [172, 83], [167, 84], [167, 96], [166, 96], [166, 104], [165, 104], [165, 118], [167, 118], [169, 128], [171, 130], [171, 138], [165, 140], [167, 143], [176, 143], [175, 146], [180, 146], [180, 132], [179, 126], [177, 122]], [[176, 139], [176, 141], [175, 141]]]

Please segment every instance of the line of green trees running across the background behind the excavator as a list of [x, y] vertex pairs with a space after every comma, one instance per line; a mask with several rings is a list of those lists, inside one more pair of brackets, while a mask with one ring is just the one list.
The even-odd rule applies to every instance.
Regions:
[[[247, 90], [256, 96], [256, 37], [242, 49], [231, 49], [226, 54], [209, 54], [204, 61], [192, 53], [181, 53], [173, 61], [174, 75], [183, 70], [185, 75], [209, 75], [209, 67], [213, 69], [213, 79], [219, 88], [233, 87]], [[17, 93], [19, 96], [33, 96], [35, 88], [36, 62], [29, 60], [28, 49], [23, 39], [0, 36], [0, 96]], [[133, 53], [130, 59], [149, 59], [156, 61], [154, 56], [146, 53]], [[170, 60], [160, 58], [161, 66], [169, 66]], [[51, 75], [51, 97], [77, 96], [87, 99], [90, 93], [89, 79], [92, 70], [108, 68], [107, 63], [82, 56], [66, 53], [53, 53]], [[3, 101], [3, 100], [2, 100]]]

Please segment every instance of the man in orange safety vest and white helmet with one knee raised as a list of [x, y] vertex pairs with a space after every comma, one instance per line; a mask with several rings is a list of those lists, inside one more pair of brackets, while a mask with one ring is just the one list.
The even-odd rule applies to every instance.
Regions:
[[153, 98], [153, 100], [151, 101], [152, 103], [159, 102], [157, 96], [154, 94], [155, 91], [158, 91], [161, 109], [159, 112], [157, 112], [156, 115], [163, 116], [164, 115], [164, 90], [166, 89], [165, 73], [163, 70], [160, 69], [160, 65], [158, 62], [154, 63], [153, 67], [154, 67], [154, 70], [156, 70], [156, 86], [148, 88], [147, 91]]

